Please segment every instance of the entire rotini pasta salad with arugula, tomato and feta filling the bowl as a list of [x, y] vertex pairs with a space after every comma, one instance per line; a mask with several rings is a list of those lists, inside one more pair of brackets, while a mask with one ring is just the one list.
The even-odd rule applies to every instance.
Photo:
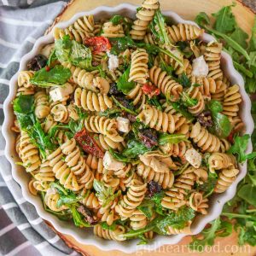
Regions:
[[104, 239], [143, 242], [190, 234], [207, 215], [239, 174], [231, 152], [244, 124], [222, 44], [203, 32], [167, 22], [157, 0], [136, 20], [84, 15], [55, 28], [55, 44], [18, 75], [12, 127], [45, 210]]

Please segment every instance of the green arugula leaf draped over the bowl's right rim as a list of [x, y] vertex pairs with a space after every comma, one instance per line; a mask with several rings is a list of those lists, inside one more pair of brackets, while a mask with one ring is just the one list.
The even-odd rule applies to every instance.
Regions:
[[236, 136], [234, 138], [234, 144], [228, 150], [230, 154], [236, 154], [238, 162], [242, 163], [245, 160], [252, 159], [256, 157], [256, 152], [246, 154], [247, 144], [249, 142], [250, 136], [245, 134], [243, 136]]

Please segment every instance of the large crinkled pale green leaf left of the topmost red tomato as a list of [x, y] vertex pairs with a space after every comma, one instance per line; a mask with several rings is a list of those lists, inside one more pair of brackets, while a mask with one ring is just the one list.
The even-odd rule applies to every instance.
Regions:
[[71, 40], [68, 35], [55, 40], [55, 55], [61, 62], [70, 62], [76, 67], [90, 68], [92, 55], [90, 48]]

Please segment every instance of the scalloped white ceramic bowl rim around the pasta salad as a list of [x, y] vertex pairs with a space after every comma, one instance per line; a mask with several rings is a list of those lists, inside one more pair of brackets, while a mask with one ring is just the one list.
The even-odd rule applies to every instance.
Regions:
[[[120, 4], [119, 6], [116, 6], [114, 8], [102, 6], [88, 12], [83, 12], [83, 13], [74, 15], [71, 20], [68, 20], [66, 22], [61, 22], [57, 26], [62, 28], [67, 27], [83, 15], [95, 15], [96, 18], [97, 17], [102, 18], [102, 17], [108, 17], [110, 15], [119, 14], [119, 15], [127, 15], [134, 18], [136, 13], [136, 8], [137, 8], [136, 6], [133, 6], [131, 4], [126, 4], [126, 3]], [[164, 12], [164, 14], [168, 16], [174, 23], [188, 23], [188, 24], [196, 25], [195, 22], [193, 21], [183, 20], [180, 16], [173, 13], [172, 11], [166, 11]], [[212, 36], [205, 33], [202, 37], [202, 40], [205, 42], [210, 42], [214, 40], [214, 38], [212, 38]], [[21, 59], [19, 71], [26, 70], [27, 61], [29, 61], [32, 58], [32, 56], [37, 55], [39, 50], [45, 44], [53, 43], [53, 41], [54, 41], [54, 37], [52, 32], [49, 33], [49, 35], [47, 36], [38, 38], [32, 51], [24, 55], [23, 58]], [[224, 74], [230, 79], [232, 84], [240, 85], [240, 92], [243, 100], [241, 105], [241, 119], [244, 121], [246, 125], [245, 132], [251, 135], [253, 132], [253, 119], [250, 113], [251, 102], [244, 89], [244, 81], [241, 75], [236, 72], [236, 69], [233, 67], [230, 55], [226, 54], [225, 52], [222, 52], [222, 68], [224, 70]], [[79, 229], [75, 227], [73, 223], [63, 222], [58, 218], [56, 218], [54, 215], [50, 214], [49, 212], [45, 212], [42, 201], [39, 198], [39, 196], [33, 196], [29, 193], [27, 184], [28, 184], [30, 175], [27, 174], [22, 167], [15, 165], [15, 162], [19, 160], [17, 154], [15, 153], [15, 133], [11, 131], [9, 128], [13, 125], [13, 121], [14, 121], [14, 113], [11, 106], [11, 102], [15, 98], [15, 93], [17, 89], [17, 85], [16, 85], [17, 77], [18, 77], [18, 73], [16, 73], [15, 76], [10, 80], [9, 96], [4, 102], [5, 119], [3, 123], [3, 136], [5, 137], [5, 140], [6, 140], [5, 155], [8, 158], [9, 162], [11, 163], [13, 177], [15, 178], [16, 182], [20, 184], [24, 198], [27, 201], [31, 202], [36, 207], [38, 214], [41, 218], [44, 218], [45, 220], [49, 221], [55, 227], [55, 230], [58, 230], [62, 234], [73, 236], [77, 241], [81, 243], [84, 243], [87, 245], [94, 245], [106, 251], [115, 249], [115, 250], [123, 251], [125, 253], [132, 253], [141, 249], [154, 250], [165, 244], [176, 244], [178, 241], [180, 241], [183, 238], [183, 236], [185, 236], [185, 235], [156, 236], [154, 240], [146, 246], [137, 246], [137, 240], [131, 240], [131, 241], [125, 241], [125, 242], [105, 241], [99, 237], [94, 236], [91, 229], [90, 230]], [[252, 143], [250, 142], [247, 148], [247, 153], [251, 151], [252, 151]], [[195, 219], [195, 223], [192, 225], [193, 234], [200, 233], [201, 230], [204, 229], [206, 224], [211, 222], [213, 219], [218, 218], [218, 216], [222, 212], [224, 203], [226, 201], [229, 201], [236, 194], [237, 183], [239, 183], [247, 173], [246, 163], [240, 166], [240, 171], [241, 172], [236, 178], [236, 181], [232, 183], [230, 188], [225, 193], [220, 195], [215, 195], [212, 198], [212, 201], [211, 201], [212, 205], [210, 207], [209, 213], [206, 216], [201, 215]]]

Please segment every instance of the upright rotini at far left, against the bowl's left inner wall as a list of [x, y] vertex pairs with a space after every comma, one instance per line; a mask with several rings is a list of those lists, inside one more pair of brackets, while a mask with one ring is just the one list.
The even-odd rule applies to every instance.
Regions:
[[26, 131], [21, 131], [17, 144], [19, 146], [18, 154], [22, 160], [23, 166], [26, 168], [26, 172], [38, 170], [41, 165], [38, 148], [33, 145]]

